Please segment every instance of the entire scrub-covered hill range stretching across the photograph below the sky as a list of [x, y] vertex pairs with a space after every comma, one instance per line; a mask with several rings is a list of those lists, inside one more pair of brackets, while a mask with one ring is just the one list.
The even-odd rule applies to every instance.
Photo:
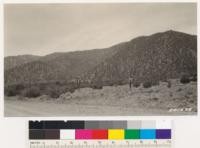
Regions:
[[113, 83], [126, 81], [129, 75], [139, 82], [165, 80], [197, 73], [197, 37], [167, 31], [106, 49], [53, 53], [24, 61], [29, 62], [5, 58], [6, 85], [72, 80], [77, 76]]

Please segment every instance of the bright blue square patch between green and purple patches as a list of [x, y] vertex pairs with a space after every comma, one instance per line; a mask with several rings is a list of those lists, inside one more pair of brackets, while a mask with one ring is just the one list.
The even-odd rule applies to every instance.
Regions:
[[140, 129], [140, 139], [156, 139], [156, 130]]

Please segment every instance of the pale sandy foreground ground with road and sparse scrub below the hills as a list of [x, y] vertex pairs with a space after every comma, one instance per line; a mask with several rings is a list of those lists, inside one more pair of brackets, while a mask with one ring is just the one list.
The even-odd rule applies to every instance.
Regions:
[[6, 117], [21, 116], [136, 116], [196, 115], [197, 83], [172, 80], [151, 88], [129, 89], [128, 85], [82, 88], [57, 99], [5, 97]]

